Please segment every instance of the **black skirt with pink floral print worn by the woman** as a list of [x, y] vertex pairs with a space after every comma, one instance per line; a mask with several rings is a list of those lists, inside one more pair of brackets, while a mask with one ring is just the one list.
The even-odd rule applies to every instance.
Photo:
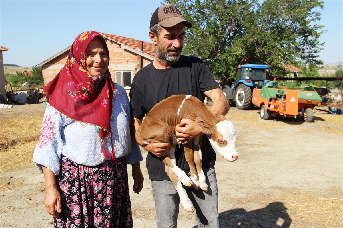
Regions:
[[133, 227], [125, 158], [91, 167], [62, 156], [60, 163], [62, 213], [54, 227]]

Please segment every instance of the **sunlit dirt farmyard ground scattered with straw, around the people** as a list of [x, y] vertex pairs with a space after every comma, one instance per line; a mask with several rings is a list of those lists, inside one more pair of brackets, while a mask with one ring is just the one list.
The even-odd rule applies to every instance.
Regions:
[[[43, 174], [32, 162], [44, 109], [0, 110], [0, 227], [52, 227]], [[217, 154], [221, 227], [343, 227], [343, 115], [315, 114], [306, 123], [231, 108], [226, 117], [236, 128], [239, 158]], [[142, 152], [144, 188], [130, 192], [134, 227], [156, 227]], [[179, 209], [178, 227], [196, 227], [194, 213]]]

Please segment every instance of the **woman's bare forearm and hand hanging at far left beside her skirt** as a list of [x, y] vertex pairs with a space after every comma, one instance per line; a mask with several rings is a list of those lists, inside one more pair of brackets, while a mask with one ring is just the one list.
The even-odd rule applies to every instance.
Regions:
[[46, 211], [58, 218], [58, 213], [62, 212], [61, 205], [61, 195], [56, 187], [56, 176], [55, 173], [48, 168], [42, 166], [45, 180], [45, 195], [44, 195], [44, 205]]

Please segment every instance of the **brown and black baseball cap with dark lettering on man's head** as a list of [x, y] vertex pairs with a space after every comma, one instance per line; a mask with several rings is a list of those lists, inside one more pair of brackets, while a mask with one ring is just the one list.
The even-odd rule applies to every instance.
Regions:
[[186, 21], [181, 12], [173, 4], [162, 5], [155, 10], [150, 20], [150, 28], [156, 24], [162, 27], [169, 28], [180, 22], [183, 22], [186, 27], [191, 28], [192, 24]]

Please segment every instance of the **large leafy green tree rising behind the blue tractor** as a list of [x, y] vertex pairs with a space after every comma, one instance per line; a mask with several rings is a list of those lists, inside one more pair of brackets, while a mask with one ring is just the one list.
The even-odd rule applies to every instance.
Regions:
[[193, 24], [184, 54], [202, 58], [222, 83], [234, 78], [238, 64], [267, 64], [285, 76], [285, 64], [323, 64], [317, 60], [323, 26], [317, 0], [167, 0]]

